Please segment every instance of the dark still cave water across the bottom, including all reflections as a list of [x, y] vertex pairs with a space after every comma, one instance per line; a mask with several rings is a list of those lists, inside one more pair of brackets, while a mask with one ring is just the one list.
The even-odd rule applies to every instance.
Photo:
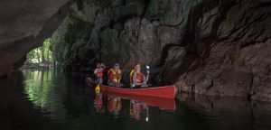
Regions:
[[271, 103], [179, 94], [157, 104], [95, 94], [86, 74], [15, 71], [0, 79], [0, 129], [271, 129]]

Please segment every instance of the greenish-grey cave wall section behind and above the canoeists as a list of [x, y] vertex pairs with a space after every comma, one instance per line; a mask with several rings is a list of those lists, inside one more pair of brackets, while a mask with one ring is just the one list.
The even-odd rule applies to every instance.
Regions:
[[[190, 11], [184, 7], [192, 8], [198, 3], [174, 0], [75, 3], [66, 22], [52, 35], [58, 46], [56, 59], [64, 70], [90, 70], [95, 61], [103, 61], [108, 67], [119, 62], [125, 69], [140, 62], [154, 67], [155, 71], [163, 70], [164, 50], [180, 44], [185, 34]], [[67, 39], [74, 35], [78, 37]]]

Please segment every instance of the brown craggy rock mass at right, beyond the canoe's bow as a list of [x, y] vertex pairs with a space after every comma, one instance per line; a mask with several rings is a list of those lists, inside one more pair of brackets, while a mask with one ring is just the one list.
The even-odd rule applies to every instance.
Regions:
[[187, 92], [270, 100], [270, 8], [266, 1], [234, 1], [192, 18], [183, 62], [192, 60], [179, 66], [185, 70], [175, 84]]

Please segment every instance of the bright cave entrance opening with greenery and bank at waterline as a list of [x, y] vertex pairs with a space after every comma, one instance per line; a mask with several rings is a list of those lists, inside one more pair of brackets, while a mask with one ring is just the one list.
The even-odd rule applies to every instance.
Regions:
[[52, 41], [51, 38], [45, 39], [42, 46], [30, 51], [26, 55], [24, 69], [52, 69]]

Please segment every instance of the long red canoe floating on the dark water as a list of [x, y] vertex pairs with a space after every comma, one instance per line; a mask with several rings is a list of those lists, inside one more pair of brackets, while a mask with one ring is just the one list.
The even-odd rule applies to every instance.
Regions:
[[175, 86], [164, 86], [155, 88], [115, 88], [101, 85], [102, 91], [110, 93], [119, 93], [134, 96], [146, 96], [156, 98], [175, 98]]

